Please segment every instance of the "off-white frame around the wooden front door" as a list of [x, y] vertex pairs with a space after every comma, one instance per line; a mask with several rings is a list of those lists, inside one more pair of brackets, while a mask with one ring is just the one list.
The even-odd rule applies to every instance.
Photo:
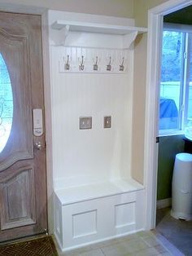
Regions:
[[0, 0], [0, 11], [41, 15], [43, 89], [46, 126], [46, 197], [48, 232], [54, 232], [53, 212], [53, 167], [52, 167], [52, 130], [51, 130], [51, 95], [50, 95], [50, 50], [48, 33], [48, 9], [44, 7], [25, 6], [17, 3], [5, 3]]

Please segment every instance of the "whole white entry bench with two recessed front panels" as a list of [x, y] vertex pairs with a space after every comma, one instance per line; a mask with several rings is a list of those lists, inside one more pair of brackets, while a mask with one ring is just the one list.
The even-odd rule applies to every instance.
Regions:
[[55, 191], [55, 236], [63, 251], [143, 229], [144, 188], [133, 179]]

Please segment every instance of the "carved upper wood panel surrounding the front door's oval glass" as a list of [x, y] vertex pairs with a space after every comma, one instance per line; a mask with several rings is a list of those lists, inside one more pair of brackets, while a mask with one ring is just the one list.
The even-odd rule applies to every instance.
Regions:
[[31, 86], [28, 73], [28, 37], [0, 29], [1, 52], [11, 77], [14, 115], [11, 135], [0, 154], [0, 171], [16, 161], [33, 158]]

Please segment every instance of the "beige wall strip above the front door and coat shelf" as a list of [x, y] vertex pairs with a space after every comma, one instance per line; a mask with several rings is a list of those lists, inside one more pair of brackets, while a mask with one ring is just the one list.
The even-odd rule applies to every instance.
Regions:
[[[50, 10], [72, 11], [97, 15], [111, 15], [116, 17], [133, 18], [133, 0], [0, 0], [7, 7], [9, 4], [26, 7], [46, 8]], [[24, 7], [15, 7], [21, 11]], [[32, 10], [34, 10], [32, 8]]]

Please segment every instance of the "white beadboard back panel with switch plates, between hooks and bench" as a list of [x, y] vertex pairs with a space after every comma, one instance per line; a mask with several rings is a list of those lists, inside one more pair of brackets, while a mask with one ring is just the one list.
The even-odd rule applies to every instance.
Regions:
[[[130, 177], [133, 52], [129, 73], [59, 73], [64, 47], [51, 47], [55, 188]], [[103, 117], [111, 115], [111, 129]], [[79, 117], [93, 127], [79, 130]]]

